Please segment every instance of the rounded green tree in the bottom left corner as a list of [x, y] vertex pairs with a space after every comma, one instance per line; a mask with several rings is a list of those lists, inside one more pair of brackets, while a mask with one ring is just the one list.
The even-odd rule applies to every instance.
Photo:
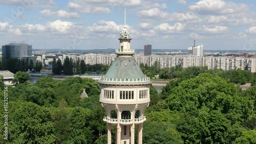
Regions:
[[49, 108], [31, 102], [8, 104], [9, 137], [8, 141], [1, 138], [0, 143], [54, 143], [56, 136]]

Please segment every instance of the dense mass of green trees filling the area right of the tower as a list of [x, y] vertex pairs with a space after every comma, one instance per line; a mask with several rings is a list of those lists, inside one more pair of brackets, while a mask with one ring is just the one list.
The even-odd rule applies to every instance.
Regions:
[[[171, 80], [160, 95], [162, 100], [147, 108], [145, 126], [152, 130], [155, 122], [167, 125], [163, 130], [157, 127], [161, 133], [172, 128], [169, 137], [181, 139], [181, 143], [256, 143], [255, 86], [242, 90], [219, 76], [202, 73]], [[151, 131], [144, 135], [155, 137]]]

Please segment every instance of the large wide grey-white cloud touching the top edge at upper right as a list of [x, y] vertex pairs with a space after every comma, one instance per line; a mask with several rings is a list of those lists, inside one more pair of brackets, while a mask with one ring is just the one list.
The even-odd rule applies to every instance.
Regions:
[[234, 14], [248, 11], [249, 6], [222, 0], [201, 0], [190, 5], [188, 9], [200, 14]]

